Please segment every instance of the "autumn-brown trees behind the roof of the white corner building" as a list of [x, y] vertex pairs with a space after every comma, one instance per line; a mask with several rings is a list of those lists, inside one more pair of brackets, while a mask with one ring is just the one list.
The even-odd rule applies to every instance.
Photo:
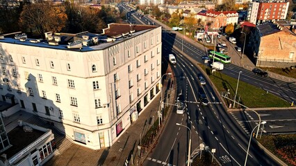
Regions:
[[91, 8], [70, 1], [19, 1], [11, 3], [0, 0], [0, 33], [22, 31], [31, 37], [42, 37], [44, 33], [102, 33], [107, 24], [120, 21], [120, 12], [109, 6]]

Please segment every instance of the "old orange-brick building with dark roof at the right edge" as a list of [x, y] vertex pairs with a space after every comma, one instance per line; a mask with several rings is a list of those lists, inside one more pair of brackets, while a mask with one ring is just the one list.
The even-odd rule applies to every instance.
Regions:
[[256, 66], [296, 65], [296, 35], [280, 24], [266, 22], [256, 26], [250, 35], [248, 46], [256, 57]]

